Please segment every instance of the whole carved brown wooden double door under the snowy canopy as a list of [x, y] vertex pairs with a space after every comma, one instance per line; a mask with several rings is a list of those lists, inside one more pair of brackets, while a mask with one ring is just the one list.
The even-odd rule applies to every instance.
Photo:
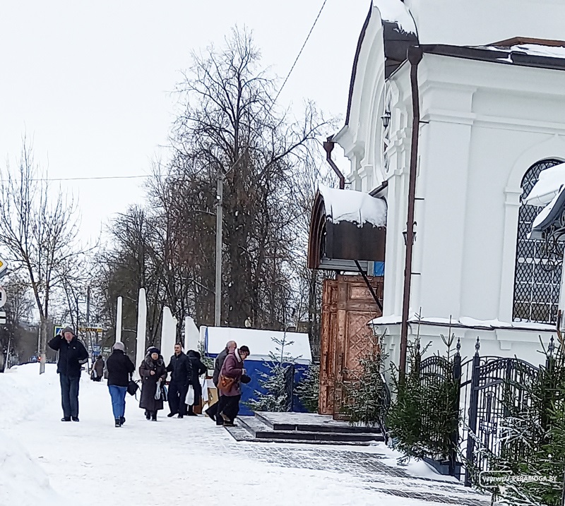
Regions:
[[[369, 277], [377, 298], [383, 300], [383, 278]], [[343, 385], [355, 380], [359, 359], [372, 347], [367, 323], [381, 310], [361, 276], [338, 276], [323, 284], [320, 343], [319, 413], [343, 419]]]

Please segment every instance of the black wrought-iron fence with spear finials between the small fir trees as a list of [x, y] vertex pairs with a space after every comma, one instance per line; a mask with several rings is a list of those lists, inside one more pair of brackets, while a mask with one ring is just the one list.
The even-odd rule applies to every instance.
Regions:
[[[552, 349], [553, 338], [549, 345], [549, 350]], [[434, 402], [430, 393], [436, 392], [442, 382], [455, 385], [453, 390], [445, 390], [451, 392], [449, 395], [453, 402], [450, 411], [454, 417], [453, 430], [450, 434], [446, 433], [445, 425], [443, 432], [434, 432], [433, 420], [428, 419], [434, 406], [430, 405], [429, 409], [422, 406], [421, 426], [422, 433], [425, 432], [422, 436], [427, 439], [429, 448], [441, 450], [430, 456], [435, 461], [434, 465], [456, 477], [459, 477], [464, 465], [465, 486], [477, 484], [480, 472], [489, 470], [492, 457], [501, 456], [505, 450], [501, 440], [501, 422], [509, 416], [509, 406], [516, 411], [530, 407], [528, 387], [537, 377], [539, 368], [521, 359], [480, 356], [479, 338], [475, 344], [475, 355], [468, 361], [462, 363], [458, 341], [452, 357], [418, 359], [413, 367], [417, 368], [425, 402]], [[385, 434], [386, 411], [390, 404], [390, 392], [386, 387], [383, 396], [385, 409], [379, 420]], [[465, 462], [460, 462], [460, 457], [464, 457]]]

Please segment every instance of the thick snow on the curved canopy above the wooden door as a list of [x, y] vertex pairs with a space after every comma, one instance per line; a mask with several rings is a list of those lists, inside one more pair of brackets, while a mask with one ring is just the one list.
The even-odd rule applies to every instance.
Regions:
[[384, 199], [371, 197], [362, 191], [337, 190], [327, 186], [320, 186], [319, 191], [326, 207], [326, 216], [331, 222], [352, 222], [359, 227], [370, 223], [374, 227], [386, 227]]

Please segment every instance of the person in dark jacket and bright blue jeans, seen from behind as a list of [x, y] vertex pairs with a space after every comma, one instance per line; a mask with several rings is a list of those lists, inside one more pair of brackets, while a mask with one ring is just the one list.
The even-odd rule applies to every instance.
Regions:
[[128, 391], [128, 383], [136, 370], [136, 366], [125, 354], [126, 348], [123, 342], [114, 344], [114, 351], [106, 361], [108, 370], [108, 390], [112, 398], [112, 411], [114, 411], [114, 424], [121, 427], [126, 423], [124, 417], [126, 413], [126, 393]]

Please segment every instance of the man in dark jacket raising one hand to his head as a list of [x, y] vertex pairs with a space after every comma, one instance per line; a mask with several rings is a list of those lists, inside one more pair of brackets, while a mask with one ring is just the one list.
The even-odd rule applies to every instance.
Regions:
[[48, 344], [49, 348], [59, 351], [57, 373], [61, 382], [61, 421], [78, 421], [78, 383], [83, 364], [88, 362], [88, 351], [71, 327], [65, 327]]

